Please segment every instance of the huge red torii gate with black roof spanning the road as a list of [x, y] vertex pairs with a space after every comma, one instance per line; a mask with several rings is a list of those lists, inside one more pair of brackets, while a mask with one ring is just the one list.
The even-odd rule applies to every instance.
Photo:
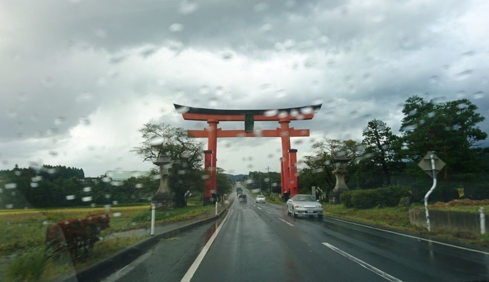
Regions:
[[[204, 151], [204, 169], [209, 174], [205, 181], [204, 203], [212, 201], [217, 193], [217, 139], [220, 137], [280, 137], [282, 139], [282, 158], [280, 165], [282, 195], [296, 195], [297, 183], [297, 150], [290, 148], [290, 137], [308, 137], [309, 129], [294, 129], [289, 127], [290, 121], [311, 120], [314, 113], [321, 109], [322, 104], [311, 106], [271, 109], [271, 110], [221, 110], [187, 107], [174, 104], [184, 120], [207, 121], [208, 128], [203, 130], [188, 130], [188, 137], [207, 138], [207, 150]], [[276, 129], [254, 130], [222, 130], [217, 128], [220, 121], [278, 121]], [[252, 127], [253, 125], [251, 125]]]

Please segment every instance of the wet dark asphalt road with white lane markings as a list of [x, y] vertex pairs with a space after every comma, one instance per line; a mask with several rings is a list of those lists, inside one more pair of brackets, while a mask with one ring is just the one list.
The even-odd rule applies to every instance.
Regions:
[[[106, 281], [179, 281], [217, 224], [157, 244]], [[489, 255], [235, 201], [192, 282], [483, 281]]]

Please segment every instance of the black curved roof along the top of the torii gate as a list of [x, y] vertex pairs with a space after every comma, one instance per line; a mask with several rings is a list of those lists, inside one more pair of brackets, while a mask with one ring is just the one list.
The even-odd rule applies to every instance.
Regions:
[[206, 108], [195, 108], [182, 106], [178, 104], [173, 104], [175, 109], [181, 113], [190, 113], [190, 114], [202, 114], [202, 115], [244, 115], [244, 114], [253, 114], [253, 115], [265, 115], [266, 112], [269, 111], [277, 111], [290, 113], [292, 110], [297, 110], [301, 113], [301, 109], [311, 108], [314, 113], [321, 109], [322, 104], [310, 105], [310, 106], [301, 106], [294, 108], [282, 108], [282, 109], [266, 109], [266, 110], [224, 110], [224, 109], [206, 109]]

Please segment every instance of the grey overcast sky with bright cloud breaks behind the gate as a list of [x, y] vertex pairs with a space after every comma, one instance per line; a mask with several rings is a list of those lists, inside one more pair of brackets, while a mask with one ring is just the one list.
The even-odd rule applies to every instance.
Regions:
[[[360, 141], [374, 118], [398, 133], [412, 95], [468, 98], [487, 117], [488, 11], [485, 0], [3, 0], [0, 168], [147, 170], [129, 151], [142, 124], [206, 126], [173, 103], [322, 102], [313, 120], [291, 123], [311, 129], [292, 138], [299, 159], [324, 136]], [[280, 148], [278, 138], [220, 139], [218, 166], [280, 171]]]

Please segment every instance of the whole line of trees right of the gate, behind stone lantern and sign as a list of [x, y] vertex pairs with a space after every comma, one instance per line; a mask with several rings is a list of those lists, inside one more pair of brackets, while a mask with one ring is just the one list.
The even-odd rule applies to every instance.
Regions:
[[314, 154], [305, 157], [307, 166], [299, 171], [301, 193], [310, 193], [311, 186], [329, 193], [335, 185], [334, 157], [344, 155], [351, 159], [346, 175], [350, 189], [405, 185], [417, 201], [430, 187], [431, 179], [417, 165], [428, 151], [446, 163], [434, 199], [456, 199], [457, 188], [489, 191], [489, 148], [480, 146], [487, 133], [477, 126], [485, 117], [475, 104], [468, 99], [437, 102], [412, 96], [402, 113], [399, 135], [386, 122], [374, 119], [367, 123], [361, 141], [324, 137], [314, 142]]

